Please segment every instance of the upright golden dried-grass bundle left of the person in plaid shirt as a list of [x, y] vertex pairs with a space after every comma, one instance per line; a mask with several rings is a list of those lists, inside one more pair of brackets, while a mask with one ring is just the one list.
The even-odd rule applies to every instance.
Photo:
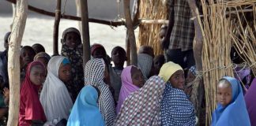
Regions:
[[[142, 0], [139, 6], [139, 19], [166, 20], [168, 19], [168, 1]], [[160, 48], [159, 31], [162, 24], [140, 24], [137, 47], [152, 46], [154, 53], [163, 54]]]

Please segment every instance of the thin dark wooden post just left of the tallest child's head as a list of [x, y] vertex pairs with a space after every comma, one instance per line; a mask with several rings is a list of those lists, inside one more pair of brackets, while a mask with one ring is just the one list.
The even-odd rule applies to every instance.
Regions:
[[58, 25], [61, 18], [61, 7], [62, 0], [57, 0], [57, 6], [55, 9], [55, 26], [54, 26], [54, 35], [53, 35], [53, 54], [58, 55]]

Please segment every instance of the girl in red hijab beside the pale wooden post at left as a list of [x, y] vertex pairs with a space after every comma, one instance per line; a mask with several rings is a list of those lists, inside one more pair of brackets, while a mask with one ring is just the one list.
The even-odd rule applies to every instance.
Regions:
[[38, 95], [44, 77], [45, 67], [40, 61], [28, 64], [26, 76], [21, 85], [20, 126], [43, 124], [46, 121]]

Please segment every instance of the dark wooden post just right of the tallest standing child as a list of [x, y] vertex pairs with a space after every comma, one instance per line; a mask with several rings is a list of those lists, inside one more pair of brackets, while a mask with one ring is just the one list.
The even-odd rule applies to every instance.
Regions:
[[83, 62], [84, 65], [91, 58], [90, 51], [90, 34], [88, 26], [88, 5], [87, 0], [80, 0], [81, 5], [81, 26], [82, 26], [82, 37], [83, 37]]

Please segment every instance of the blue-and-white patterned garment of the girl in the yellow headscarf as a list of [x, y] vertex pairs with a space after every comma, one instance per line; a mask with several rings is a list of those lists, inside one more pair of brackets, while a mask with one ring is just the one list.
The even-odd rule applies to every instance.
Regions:
[[194, 126], [196, 117], [194, 106], [184, 91], [166, 83], [164, 98], [161, 102], [161, 122], [168, 126]]

